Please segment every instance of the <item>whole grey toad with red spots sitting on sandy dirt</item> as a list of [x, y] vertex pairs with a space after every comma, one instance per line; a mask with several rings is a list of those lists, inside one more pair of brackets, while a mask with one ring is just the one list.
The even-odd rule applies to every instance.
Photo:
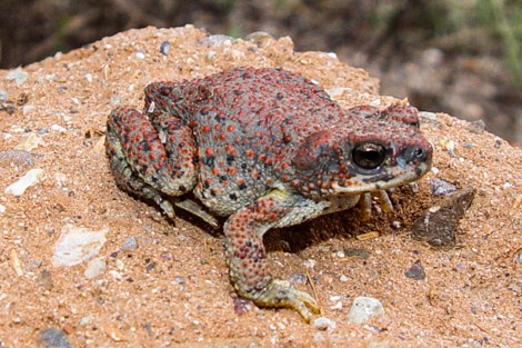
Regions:
[[227, 262], [238, 294], [307, 321], [318, 302], [268, 275], [263, 233], [418, 180], [432, 158], [416, 109], [344, 110], [305, 78], [271, 68], [152, 83], [143, 112], [112, 111], [106, 145], [123, 190], [171, 218], [169, 199], [192, 191], [211, 213], [229, 217]]

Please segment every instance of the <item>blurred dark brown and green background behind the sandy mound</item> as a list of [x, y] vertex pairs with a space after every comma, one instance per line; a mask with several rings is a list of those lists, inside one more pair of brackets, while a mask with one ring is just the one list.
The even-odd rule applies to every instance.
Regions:
[[522, 0], [0, 0], [0, 68], [131, 28], [290, 36], [408, 97], [522, 145]]

